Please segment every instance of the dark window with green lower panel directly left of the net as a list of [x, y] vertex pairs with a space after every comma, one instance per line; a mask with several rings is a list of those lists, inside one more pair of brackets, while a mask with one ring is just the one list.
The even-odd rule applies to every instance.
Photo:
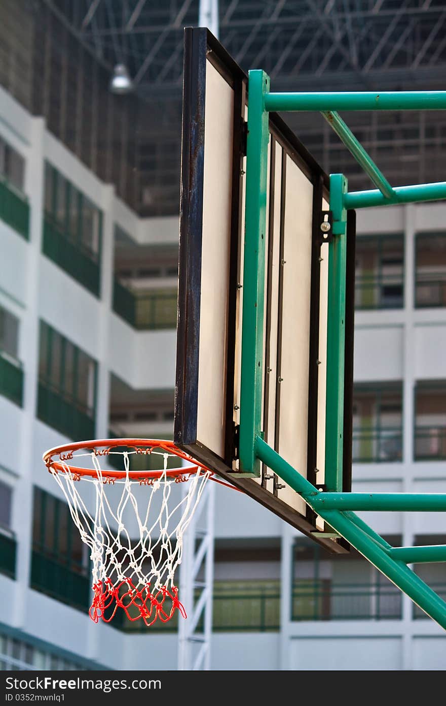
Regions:
[[88, 608], [87, 554], [66, 502], [35, 486], [31, 588], [71, 606]]

